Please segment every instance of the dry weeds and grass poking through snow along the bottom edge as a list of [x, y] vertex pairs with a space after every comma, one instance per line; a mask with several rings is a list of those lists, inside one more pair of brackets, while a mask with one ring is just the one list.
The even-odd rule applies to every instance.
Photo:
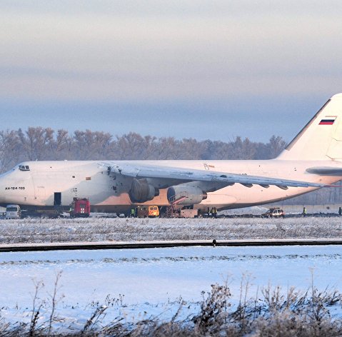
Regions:
[[[58, 279], [55, 288], [58, 284]], [[245, 282], [246, 284], [246, 282]], [[287, 292], [268, 286], [256, 298], [247, 298], [248, 287], [244, 288], [240, 303], [233, 308], [231, 291], [227, 283], [214, 284], [211, 291], [203, 293], [200, 310], [186, 319], [180, 319], [182, 307], [168, 321], [158, 317], [138, 322], [127, 322], [116, 317], [104, 324], [107, 305], [98, 304], [84, 326], [64, 326], [63, 318], [44, 312], [44, 307], [32, 310], [31, 323], [6, 323], [0, 321], [1, 336], [341, 336], [341, 318], [333, 317], [330, 308], [341, 311], [341, 293], [323, 291], [314, 287], [306, 293], [294, 288]], [[35, 298], [39, 302], [38, 298]], [[118, 303], [116, 303], [118, 304]], [[50, 316], [49, 323], [37, 322], [41, 316]]]

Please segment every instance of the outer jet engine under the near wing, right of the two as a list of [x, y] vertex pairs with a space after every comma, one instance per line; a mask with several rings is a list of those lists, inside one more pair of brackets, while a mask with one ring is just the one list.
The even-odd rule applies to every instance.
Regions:
[[182, 197], [184, 198], [177, 203], [178, 205], [193, 205], [201, 203], [202, 200], [206, 199], [207, 194], [201, 188], [193, 186], [171, 186], [168, 188], [167, 198], [169, 203]]

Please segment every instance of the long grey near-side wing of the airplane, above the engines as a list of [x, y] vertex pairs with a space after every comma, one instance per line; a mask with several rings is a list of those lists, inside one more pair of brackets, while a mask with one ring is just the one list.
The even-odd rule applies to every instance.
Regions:
[[[174, 181], [186, 183], [189, 181], [206, 181], [213, 183], [222, 183], [223, 186], [241, 183], [243, 186], [251, 187], [254, 184], [268, 188], [270, 185], [278, 188], [287, 189], [288, 187], [323, 187], [323, 183], [311, 183], [308, 181], [296, 181], [283, 178], [269, 178], [265, 176], [249, 176], [246, 174], [236, 174], [228, 172], [206, 171], [196, 169], [180, 169], [171, 166], [149, 166], [140, 163], [130, 164], [112, 164], [108, 166], [109, 171], [122, 176], [129, 176], [136, 179], [163, 179], [166, 186], [171, 186]], [[167, 181], [170, 181], [170, 184]], [[223, 186], [219, 187], [222, 188]]]

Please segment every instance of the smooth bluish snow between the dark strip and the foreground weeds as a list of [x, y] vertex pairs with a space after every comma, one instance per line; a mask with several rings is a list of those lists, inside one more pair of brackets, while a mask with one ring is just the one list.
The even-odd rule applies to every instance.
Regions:
[[0, 318], [29, 321], [34, 284], [44, 281], [38, 302], [47, 300], [41, 318], [46, 320], [56, 273], [62, 271], [57, 314], [76, 326], [84, 325], [98, 303], [109, 306], [106, 321], [118, 315], [128, 321], [168, 318], [182, 301], [187, 316], [198, 311], [201, 291], [225, 280], [235, 303], [247, 278], [248, 297], [258, 296], [268, 283], [305, 291], [311, 273], [319, 289], [338, 288], [342, 281], [341, 246], [1, 253], [0, 266]]

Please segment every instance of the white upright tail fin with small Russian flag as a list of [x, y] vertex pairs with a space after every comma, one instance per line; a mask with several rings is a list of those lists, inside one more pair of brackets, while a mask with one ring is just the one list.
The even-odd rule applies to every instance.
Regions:
[[342, 94], [331, 97], [277, 159], [342, 160]]

